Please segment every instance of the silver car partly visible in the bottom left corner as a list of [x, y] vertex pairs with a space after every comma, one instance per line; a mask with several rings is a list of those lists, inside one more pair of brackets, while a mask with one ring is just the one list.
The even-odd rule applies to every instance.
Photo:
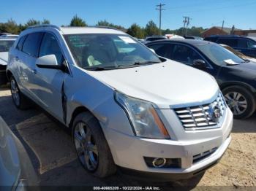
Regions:
[[[24, 190], [37, 186], [37, 174], [18, 138], [0, 117], [0, 187], [3, 190]], [[0, 189], [0, 190], [1, 190]]]

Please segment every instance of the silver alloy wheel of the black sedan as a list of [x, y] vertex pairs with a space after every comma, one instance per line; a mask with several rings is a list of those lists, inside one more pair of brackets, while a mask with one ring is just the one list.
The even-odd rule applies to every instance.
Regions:
[[242, 114], [247, 109], [247, 101], [244, 95], [238, 92], [230, 92], [225, 94], [225, 100], [227, 102], [227, 106], [230, 107], [233, 114], [238, 115]]

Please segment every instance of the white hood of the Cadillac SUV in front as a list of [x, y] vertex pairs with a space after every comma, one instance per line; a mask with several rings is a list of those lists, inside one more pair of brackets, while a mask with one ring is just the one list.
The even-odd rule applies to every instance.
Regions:
[[121, 93], [151, 101], [159, 109], [200, 104], [219, 90], [211, 75], [170, 60], [129, 69], [86, 72]]

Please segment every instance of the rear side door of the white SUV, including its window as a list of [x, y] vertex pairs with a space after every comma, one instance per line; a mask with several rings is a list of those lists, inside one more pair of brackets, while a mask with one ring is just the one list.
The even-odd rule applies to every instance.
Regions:
[[23, 93], [36, 103], [38, 103], [39, 98], [36, 95], [38, 87], [34, 84], [34, 67], [37, 61], [41, 39], [41, 32], [28, 34], [23, 44], [20, 44], [20, 47], [18, 47], [21, 51], [15, 58], [19, 63], [18, 70], [20, 74], [18, 75], [18, 81], [20, 82], [20, 87], [23, 88]]

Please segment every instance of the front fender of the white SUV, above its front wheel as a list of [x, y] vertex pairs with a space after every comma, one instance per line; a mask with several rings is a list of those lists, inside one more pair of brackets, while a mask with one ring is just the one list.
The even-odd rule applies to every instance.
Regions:
[[[91, 77], [82, 69], [74, 67], [73, 77], [64, 80], [67, 95], [67, 125], [75, 109], [83, 106], [99, 120], [102, 128], [111, 128], [127, 135], [134, 135], [127, 114], [114, 100], [114, 90]], [[105, 131], [104, 130], [104, 131]]]

